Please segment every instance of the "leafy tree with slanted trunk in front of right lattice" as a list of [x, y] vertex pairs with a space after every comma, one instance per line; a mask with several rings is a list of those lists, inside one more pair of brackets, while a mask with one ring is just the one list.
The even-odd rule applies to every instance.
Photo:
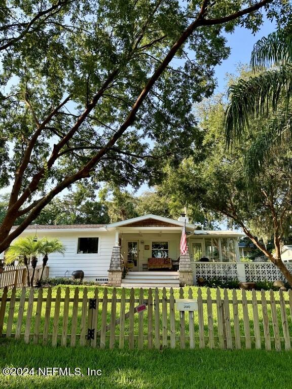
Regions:
[[[281, 245], [292, 222], [290, 149], [282, 146], [277, 152], [270, 152], [251, 188], [244, 175], [245, 154], [266, 121], [250, 121], [250, 137], [227, 149], [223, 131], [226, 106], [222, 100], [218, 98], [200, 107], [208, 157], [199, 164], [190, 157], [176, 169], [167, 167], [161, 190], [173, 193], [181, 207], [199, 205], [209, 217], [227, 219], [230, 227], [242, 229], [292, 285], [292, 275], [281, 259]], [[265, 245], [271, 236], [275, 254]]]

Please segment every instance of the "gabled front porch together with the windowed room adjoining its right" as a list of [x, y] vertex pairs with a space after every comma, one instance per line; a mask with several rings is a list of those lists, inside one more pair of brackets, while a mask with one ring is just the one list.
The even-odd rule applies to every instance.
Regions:
[[[120, 262], [126, 267], [128, 280], [134, 275], [138, 275], [144, 281], [155, 280], [157, 272], [166, 276], [166, 273], [178, 270], [180, 285], [192, 285], [194, 282], [192, 263], [239, 261], [238, 239], [242, 234], [234, 231], [196, 230], [195, 225], [185, 223], [185, 220], [186, 217], [175, 221], [145, 215], [112, 224], [111, 228], [115, 230], [113, 253], [115, 250], [114, 257], [117, 258], [115, 266], [111, 262], [109, 271], [121, 271], [122, 266], [119, 267], [118, 258], [120, 251]], [[181, 256], [180, 239], [184, 225], [189, 251], [185, 256]], [[146, 276], [146, 273], [149, 275]], [[115, 280], [114, 283], [117, 285]]]

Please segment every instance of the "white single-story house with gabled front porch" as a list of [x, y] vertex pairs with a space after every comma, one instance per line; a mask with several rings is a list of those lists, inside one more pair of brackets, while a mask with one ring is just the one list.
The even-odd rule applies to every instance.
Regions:
[[[179, 249], [184, 225], [189, 247], [187, 259], [182, 259]], [[122, 282], [142, 279], [145, 285], [150, 280], [145, 281], [147, 276], [157, 280], [161, 276], [160, 281], [168, 276], [167, 285], [169, 278], [177, 283], [177, 270], [193, 273], [193, 264], [198, 261], [239, 262], [238, 241], [243, 236], [237, 231], [198, 230], [184, 214], [178, 220], [149, 214], [106, 225], [30, 225], [21, 234], [28, 235], [58, 238], [66, 247], [64, 255], [50, 254], [49, 277], [70, 277], [72, 271], [83, 270], [86, 280], [109, 281], [112, 285], [121, 283], [112, 282], [113, 271], [121, 273], [121, 258], [132, 263], [126, 281]], [[193, 279], [193, 275], [190, 277]]]

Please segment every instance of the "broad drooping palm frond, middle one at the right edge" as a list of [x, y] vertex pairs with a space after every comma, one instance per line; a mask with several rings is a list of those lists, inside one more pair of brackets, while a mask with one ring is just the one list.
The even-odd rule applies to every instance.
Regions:
[[230, 145], [231, 139], [241, 139], [249, 128], [250, 118], [259, 118], [271, 111], [275, 113], [283, 97], [288, 110], [291, 96], [292, 68], [289, 65], [231, 85], [224, 122], [227, 145]]

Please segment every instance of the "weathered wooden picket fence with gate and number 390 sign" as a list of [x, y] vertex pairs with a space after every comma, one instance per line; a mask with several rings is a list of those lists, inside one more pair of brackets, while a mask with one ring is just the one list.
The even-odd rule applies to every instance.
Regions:
[[[175, 300], [185, 297], [195, 297], [198, 310], [179, 312]], [[291, 318], [291, 290], [95, 288], [89, 295], [87, 288], [5, 287], [0, 335], [52, 346], [280, 351], [291, 348]]]

